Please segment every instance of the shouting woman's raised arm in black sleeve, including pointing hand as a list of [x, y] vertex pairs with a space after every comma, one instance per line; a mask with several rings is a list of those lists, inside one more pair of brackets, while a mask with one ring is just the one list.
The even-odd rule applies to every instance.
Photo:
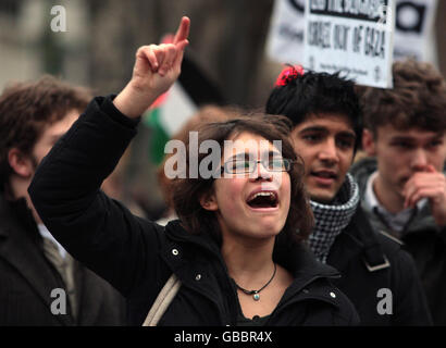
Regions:
[[158, 250], [164, 234], [108, 198], [100, 186], [135, 136], [136, 117], [178, 77], [189, 23], [182, 18], [173, 44], [138, 49], [131, 82], [114, 99], [90, 102], [41, 161], [28, 188], [51, 234], [124, 295], [163, 273]]

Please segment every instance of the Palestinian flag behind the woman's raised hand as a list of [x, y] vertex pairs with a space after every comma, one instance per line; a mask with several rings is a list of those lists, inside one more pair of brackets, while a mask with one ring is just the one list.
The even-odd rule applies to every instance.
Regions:
[[164, 146], [198, 108], [205, 104], [223, 105], [225, 101], [215, 85], [186, 51], [182, 74], [176, 83], [150, 107], [144, 124], [151, 128], [150, 160], [160, 164]]

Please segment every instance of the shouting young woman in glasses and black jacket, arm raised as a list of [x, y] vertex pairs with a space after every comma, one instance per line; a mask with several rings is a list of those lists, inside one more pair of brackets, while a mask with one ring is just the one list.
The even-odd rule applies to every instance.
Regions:
[[[100, 191], [138, 116], [179, 75], [188, 30], [183, 17], [173, 44], [140, 48], [126, 87], [95, 98], [53, 147], [29, 188], [39, 215], [74, 258], [127, 298], [132, 325], [357, 324], [330, 282], [338, 273], [302, 244], [312, 214], [286, 121], [240, 116], [200, 129], [185, 158], [185, 173], [195, 165], [198, 177], [175, 181], [179, 219], [165, 227]], [[219, 149], [216, 167], [205, 141], [213, 154]], [[153, 315], [170, 284], [177, 291]]]

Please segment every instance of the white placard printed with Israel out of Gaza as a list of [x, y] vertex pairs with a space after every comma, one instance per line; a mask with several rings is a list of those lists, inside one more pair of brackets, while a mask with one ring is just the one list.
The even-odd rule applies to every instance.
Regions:
[[394, 0], [307, 0], [303, 66], [389, 88], [394, 30]]

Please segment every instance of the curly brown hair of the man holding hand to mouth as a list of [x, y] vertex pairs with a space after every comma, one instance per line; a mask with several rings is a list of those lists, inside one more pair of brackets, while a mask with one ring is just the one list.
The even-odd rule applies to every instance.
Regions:
[[393, 64], [393, 88], [358, 86], [364, 127], [376, 137], [387, 124], [398, 129], [446, 129], [446, 83], [430, 63], [412, 59]]

